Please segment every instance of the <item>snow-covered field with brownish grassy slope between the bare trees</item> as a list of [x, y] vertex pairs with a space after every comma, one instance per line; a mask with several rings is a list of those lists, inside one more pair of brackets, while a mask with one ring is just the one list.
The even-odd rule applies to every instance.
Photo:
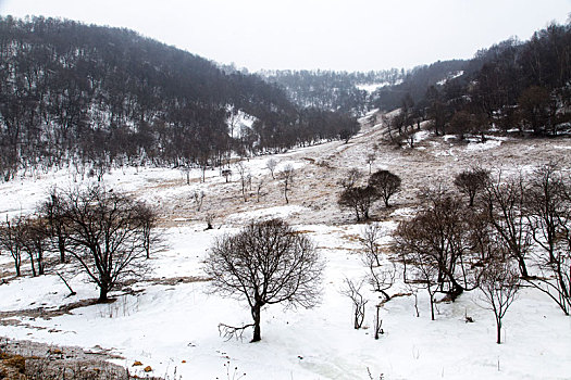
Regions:
[[[151, 366], [152, 376], [182, 379], [571, 379], [571, 318], [545, 295], [525, 288], [504, 319], [504, 343], [495, 343], [495, 320], [482, 307], [476, 291], [462, 294], [455, 303], [438, 303], [436, 320], [430, 319], [425, 292], [419, 291], [420, 317], [414, 299], [401, 283], [389, 291], [402, 293], [381, 308], [385, 333], [373, 339], [373, 318], [378, 295], [368, 292], [365, 328], [352, 328], [352, 308], [340, 294], [344, 279], [365, 276], [358, 244], [362, 225], [336, 205], [337, 180], [349, 167], [369, 170], [367, 154], [378, 142], [381, 131], [365, 128], [348, 144], [331, 142], [273, 156], [276, 172], [286, 164], [296, 169], [289, 204], [281, 185], [265, 168], [269, 156], [245, 162], [256, 187], [264, 179], [266, 194], [256, 191], [244, 202], [239, 178], [229, 182], [218, 169], [191, 173], [190, 185], [176, 169], [125, 168], [104, 176], [107, 188], [122, 190], [146, 200], [160, 211], [160, 232], [165, 248], [150, 258], [152, 273], [146, 279], [115, 291], [110, 304], [90, 304], [59, 312], [98, 296], [85, 275], [60, 266], [48, 275], [13, 278], [13, 264], [0, 255], [3, 283], [0, 286], [0, 335], [53, 345], [110, 350], [123, 359], [114, 363], [146, 376], [136, 360]], [[450, 183], [455, 173], [480, 163], [485, 167], [518, 170], [556, 160], [569, 168], [570, 140], [526, 142], [489, 139], [485, 144], [460, 144], [419, 135], [422, 149], [381, 145], [373, 170], [387, 168], [402, 178], [406, 191], [396, 206], [382, 207], [373, 216], [387, 232], [396, 221], [411, 215], [415, 191], [432, 182]], [[554, 149], [557, 148], [557, 149]], [[90, 179], [79, 180], [85, 186]], [[58, 186], [74, 186], [65, 169], [36, 174], [0, 185], [0, 217], [28, 214]], [[193, 201], [204, 191], [198, 211]], [[411, 208], [412, 207], [412, 208]], [[203, 215], [213, 213], [214, 229], [204, 230]], [[283, 217], [314, 241], [326, 267], [320, 304], [312, 309], [284, 309], [272, 305], [262, 311], [262, 341], [225, 340], [220, 322], [250, 321], [247, 304], [210, 292], [202, 262], [216, 237], [236, 232], [251, 219]], [[389, 238], [385, 239], [386, 242]], [[69, 290], [55, 270], [63, 274]], [[467, 324], [466, 316], [474, 322]], [[229, 377], [226, 367], [232, 368]], [[233, 375], [234, 368], [236, 376]], [[370, 375], [369, 375], [370, 373]], [[234, 376], [234, 377], [233, 377]]]

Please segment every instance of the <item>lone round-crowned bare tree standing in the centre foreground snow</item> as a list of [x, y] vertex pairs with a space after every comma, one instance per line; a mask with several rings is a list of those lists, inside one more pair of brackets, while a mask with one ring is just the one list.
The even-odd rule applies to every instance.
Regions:
[[251, 223], [216, 240], [204, 264], [215, 292], [245, 299], [250, 306], [252, 324], [222, 328], [232, 335], [253, 327], [252, 342], [261, 340], [263, 306], [316, 304], [322, 270], [313, 243], [281, 219]]

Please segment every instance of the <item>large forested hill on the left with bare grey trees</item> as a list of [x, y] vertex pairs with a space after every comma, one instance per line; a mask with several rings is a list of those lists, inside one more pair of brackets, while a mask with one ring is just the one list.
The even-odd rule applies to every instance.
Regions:
[[[250, 123], [229, 132], [236, 115]], [[220, 165], [231, 151], [278, 151], [357, 128], [345, 115], [298, 107], [259, 76], [225, 73], [132, 30], [0, 17], [7, 180], [38, 165]]]

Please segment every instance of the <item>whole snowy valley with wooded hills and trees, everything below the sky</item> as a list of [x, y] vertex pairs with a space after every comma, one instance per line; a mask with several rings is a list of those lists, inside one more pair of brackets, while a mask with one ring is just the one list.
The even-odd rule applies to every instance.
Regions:
[[571, 24], [250, 73], [0, 17], [0, 378], [568, 379]]

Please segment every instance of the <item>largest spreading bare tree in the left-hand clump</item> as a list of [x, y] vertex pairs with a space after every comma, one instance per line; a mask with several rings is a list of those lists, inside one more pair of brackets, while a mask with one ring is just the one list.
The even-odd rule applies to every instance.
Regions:
[[146, 240], [140, 207], [126, 195], [101, 187], [62, 195], [70, 251], [99, 287], [99, 301], [133, 276], [144, 275]]

